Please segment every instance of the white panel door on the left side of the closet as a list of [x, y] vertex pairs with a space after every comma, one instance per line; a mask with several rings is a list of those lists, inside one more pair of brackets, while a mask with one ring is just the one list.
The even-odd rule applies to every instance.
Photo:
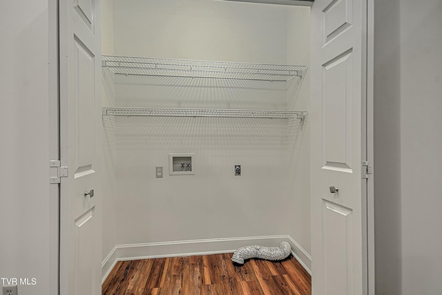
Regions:
[[101, 294], [99, 0], [59, 1], [60, 293]]

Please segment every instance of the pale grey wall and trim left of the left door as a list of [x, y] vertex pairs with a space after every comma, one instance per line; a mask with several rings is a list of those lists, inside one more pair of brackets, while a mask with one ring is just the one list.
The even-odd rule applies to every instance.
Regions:
[[35, 278], [20, 295], [57, 293], [55, 4], [0, 3], [0, 278]]

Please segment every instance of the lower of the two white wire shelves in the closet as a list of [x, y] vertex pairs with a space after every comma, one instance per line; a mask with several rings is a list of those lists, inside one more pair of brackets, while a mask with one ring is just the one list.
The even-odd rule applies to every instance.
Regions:
[[299, 119], [307, 117], [306, 111], [269, 111], [269, 110], [231, 110], [214, 108], [108, 108], [103, 115], [119, 116], [157, 116], [157, 117], [251, 117]]

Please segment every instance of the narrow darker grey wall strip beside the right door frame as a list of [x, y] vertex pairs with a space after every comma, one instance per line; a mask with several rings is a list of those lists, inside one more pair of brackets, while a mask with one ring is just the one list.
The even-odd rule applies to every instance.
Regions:
[[399, 0], [374, 1], [376, 294], [401, 292], [401, 23]]

